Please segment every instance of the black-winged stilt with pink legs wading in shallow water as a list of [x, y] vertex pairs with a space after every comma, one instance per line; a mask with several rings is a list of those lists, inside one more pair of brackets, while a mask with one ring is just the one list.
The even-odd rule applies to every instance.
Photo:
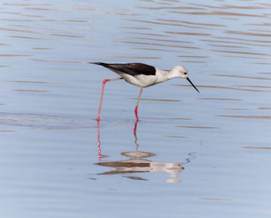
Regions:
[[[198, 89], [194, 86], [192, 81], [188, 78], [188, 69], [184, 66], [174, 66], [171, 70], [162, 70], [158, 69], [157, 67], [150, 66], [147, 64], [141, 63], [129, 63], [129, 64], [106, 64], [101, 62], [88, 62], [88, 64], [98, 64], [101, 66], [114, 71], [116, 74], [120, 75], [121, 77], [113, 78], [113, 79], [103, 79], [103, 85], [101, 90], [101, 100], [100, 106], [98, 110], [98, 117], [97, 120], [100, 120], [101, 116], [101, 104], [103, 101], [103, 89], [108, 81], [124, 79], [130, 84], [140, 87], [138, 101], [136, 101], [136, 120], [138, 121], [138, 103], [140, 101], [140, 97], [143, 91], [143, 88], [148, 86], [153, 86], [155, 84], [161, 83], [163, 81], [167, 81], [168, 79], [173, 78], [183, 78], [187, 79], [190, 84], [198, 91]], [[200, 91], [198, 91], [200, 92]]]

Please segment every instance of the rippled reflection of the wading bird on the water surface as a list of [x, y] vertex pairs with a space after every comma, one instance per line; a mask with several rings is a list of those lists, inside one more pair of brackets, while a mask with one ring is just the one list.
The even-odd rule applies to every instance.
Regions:
[[[98, 124], [98, 122], [97, 122]], [[167, 172], [170, 174], [170, 179], [167, 179], [166, 182], [176, 183], [180, 182], [178, 179], [180, 172], [183, 171], [182, 163], [172, 163], [172, 162], [154, 162], [148, 159], [147, 157], [155, 156], [151, 152], [139, 152], [138, 148], [138, 138], [136, 137], [136, 127], [138, 122], [135, 122], [133, 129], [133, 134], [135, 137], [136, 152], [122, 152], [121, 155], [129, 157], [130, 159], [124, 161], [116, 162], [98, 162], [97, 165], [104, 167], [113, 167], [115, 170], [103, 172], [104, 175], [112, 174], [134, 174], [134, 173], [143, 173], [143, 172]], [[97, 126], [99, 127], [99, 125]], [[105, 157], [101, 154], [101, 142], [100, 142], [100, 131], [98, 129], [98, 159]], [[147, 180], [142, 177], [132, 177], [126, 176], [128, 179], [137, 179], [137, 180]]]

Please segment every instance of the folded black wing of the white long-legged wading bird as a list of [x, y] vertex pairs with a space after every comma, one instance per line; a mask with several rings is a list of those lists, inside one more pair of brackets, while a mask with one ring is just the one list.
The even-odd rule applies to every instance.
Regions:
[[129, 64], [106, 64], [101, 62], [89, 62], [90, 64], [98, 64], [101, 66], [106, 67], [107, 69], [111, 69], [115, 71], [117, 74], [118, 72], [129, 74], [131, 76], [136, 75], [155, 75], [156, 69], [154, 66], [150, 66], [148, 64], [141, 64], [141, 63], [129, 63]]

